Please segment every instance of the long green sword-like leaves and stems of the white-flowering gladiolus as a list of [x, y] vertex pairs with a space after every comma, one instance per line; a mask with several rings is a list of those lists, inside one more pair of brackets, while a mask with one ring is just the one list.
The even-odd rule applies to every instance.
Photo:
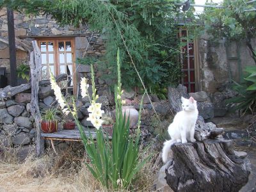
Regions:
[[[109, 189], [109, 185], [111, 185], [115, 190], [128, 189], [131, 186], [132, 180], [136, 179], [137, 173], [150, 158], [148, 156], [142, 161], [140, 160], [140, 120], [136, 135], [131, 136], [129, 135], [129, 120], [125, 122], [125, 115], [122, 115], [119, 50], [117, 66], [118, 84], [115, 86], [116, 121], [113, 125], [112, 145], [109, 144], [108, 136], [104, 137], [102, 129], [97, 130], [97, 142], [94, 143], [92, 135], [88, 137], [84, 134], [84, 130], [75, 115], [76, 124], [79, 127], [86, 153], [91, 160], [91, 163], [86, 165], [92, 175], [103, 186]], [[92, 82], [92, 84], [94, 83]], [[96, 90], [93, 88], [93, 95], [95, 95], [95, 92]]]

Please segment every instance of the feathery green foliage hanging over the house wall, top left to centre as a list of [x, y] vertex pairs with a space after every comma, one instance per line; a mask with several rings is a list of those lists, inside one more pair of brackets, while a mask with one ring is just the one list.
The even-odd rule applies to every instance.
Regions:
[[[106, 37], [106, 56], [102, 70], [108, 68], [116, 77], [115, 48], [120, 47], [124, 86], [141, 86], [131, 65], [125, 44], [147, 88], [178, 84], [180, 80], [179, 44], [175, 18], [179, 8], [176, 0], [4, 0], [28, 14], [52, 15], [61, 25], [88, 24], [91, 30]], [[84, 61], [90, 63], [90, 61]], [[104, 63], [104, 65], [103, 65]]]

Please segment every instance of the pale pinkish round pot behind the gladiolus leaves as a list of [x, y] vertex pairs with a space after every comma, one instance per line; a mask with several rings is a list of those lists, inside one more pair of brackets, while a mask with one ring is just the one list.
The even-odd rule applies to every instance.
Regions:
[[134, 106], [122, 106], [122, 113], [125, 113], [125, 120], [127, 121], [129, 117], [130, 128], [133, 128], [138, 124], [139, 112], [134, 108]]

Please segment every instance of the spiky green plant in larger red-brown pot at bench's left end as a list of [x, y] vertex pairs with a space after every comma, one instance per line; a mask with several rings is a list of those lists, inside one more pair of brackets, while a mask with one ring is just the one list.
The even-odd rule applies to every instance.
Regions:
[[43, 132], [56, 132], [58, 130], [57, 108], [45, 109], [42, 113], [41, 129]]

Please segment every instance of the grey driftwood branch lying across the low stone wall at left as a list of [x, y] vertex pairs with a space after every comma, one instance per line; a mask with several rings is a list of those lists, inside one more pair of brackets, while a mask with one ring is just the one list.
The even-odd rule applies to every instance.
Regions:
[[[32, 75], [31, 75], [32, 76]], [[60, 76], [56, 76], [56, 82], [67, 80], [67, 74], [61, 74]], [[48, 86], [50, 84], [49, 80], [44, 80], [39, 82], [39, 86]], [[19, 86], [6, 86], [2, 90], [0, 90], [0, 99], [6, 99], [8, 97], [12, 97], [17, 95], [17, 93], [26, 92], [31, 89], [31, 83], [20, 84]]]

